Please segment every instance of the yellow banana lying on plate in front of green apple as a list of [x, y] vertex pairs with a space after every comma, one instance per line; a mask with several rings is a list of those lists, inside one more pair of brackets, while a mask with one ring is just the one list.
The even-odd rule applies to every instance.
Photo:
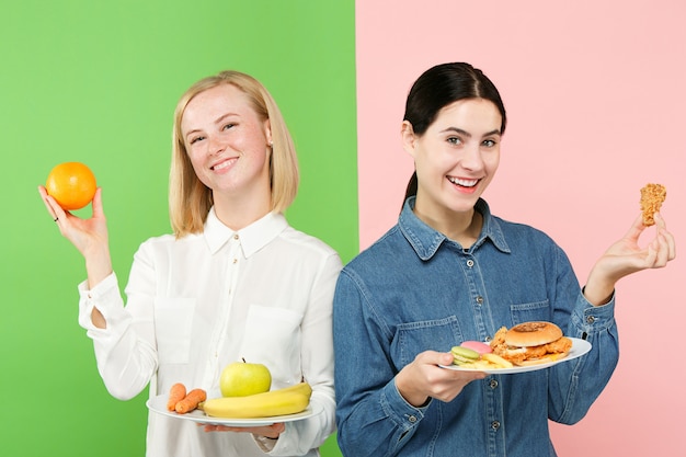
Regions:
[[206, 400], [203, 411], [214, 418], [255, 419], [295, 414], [310, 403], [312, 388], [307, 382], [247, 397], [222, 397]]

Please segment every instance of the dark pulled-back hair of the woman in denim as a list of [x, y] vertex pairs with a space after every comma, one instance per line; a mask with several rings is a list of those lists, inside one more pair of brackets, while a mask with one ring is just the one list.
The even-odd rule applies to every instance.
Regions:
[[[505, 106], [495, 84], [481, 70], [465, 62], [441, 64], [424, 71], [410, 89], [403, 121], [412, 124], [416, 135], [423, 135], [441, 110], [462, 99], [493, 102], [502, 117], [500, 133], [505, 133]], [[416, 184], [414, 172], [408, 183], [403, 204], [409, 196], [416, 195]]]

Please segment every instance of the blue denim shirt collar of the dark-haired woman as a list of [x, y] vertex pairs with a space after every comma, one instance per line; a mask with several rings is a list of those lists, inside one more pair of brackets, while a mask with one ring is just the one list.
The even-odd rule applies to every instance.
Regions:
[[[412, 249], [414, 249], [414, 252], [416, 252], [416, 255], [422, 260], [428, 260], [448, 238], [416, 217], [412, 210], [414, 208], [414, 201], [415, 196], [411, 196], [405, 201], [402, 212], [400, 213], [400, 218], [398, 219], [398, 226], [412, 245]], [[483, 227], [481, 228], [479, 239], [470, 249], [478, 249], [489, 239], [499, 250], [510, 252], [510, 247], [505, 241], [500, 222], [498, 218], [491, 215], [488, 203], [479, 198], [475, 205], [475, 209], [483, 216]]]

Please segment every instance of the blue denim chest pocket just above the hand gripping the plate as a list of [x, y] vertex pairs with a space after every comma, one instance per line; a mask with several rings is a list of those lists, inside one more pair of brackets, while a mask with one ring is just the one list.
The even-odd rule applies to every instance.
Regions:
[[456, 316], [397, 325], [391, 355], [400, 369], [424, 351], [448, 352], [457, 345], [462, 332]]

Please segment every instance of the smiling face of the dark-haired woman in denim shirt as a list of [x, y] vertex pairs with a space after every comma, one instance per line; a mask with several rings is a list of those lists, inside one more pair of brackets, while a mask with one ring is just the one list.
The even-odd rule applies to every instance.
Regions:
[[416, 169], [414, 210], [420, 218], [441, 231], [444, 227], [436, 225], [456, 217], [471, 220], [475, 204], [498, 170], [501, 124], [500, 111], [484, 99], [443, 107], [421, 136], [403, 123], [404, 149]]

